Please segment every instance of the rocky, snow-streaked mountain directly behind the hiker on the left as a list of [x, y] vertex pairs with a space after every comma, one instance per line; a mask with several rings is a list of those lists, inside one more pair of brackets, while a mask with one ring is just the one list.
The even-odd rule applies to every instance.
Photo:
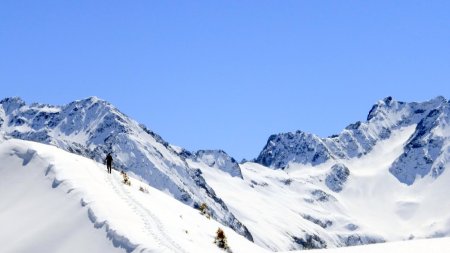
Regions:
[[[51, 144], [98, 162], [112, 152], [114, 169], [130, 171], [187, 205], [207, 203], [213, 218], [252, 239], [183, 156], [108, 102], [91, 97], [65, 106], [26, 105], [20, 98], [6, 98], [0, 105], [0, 119], [5, 121], [1, 132], [7, 137]], [[225, 160], [220, 166], [238, 173], [239, 166], [226, 157], [222, 156]], [[198, 182], [202, 182], [201, 187]]]

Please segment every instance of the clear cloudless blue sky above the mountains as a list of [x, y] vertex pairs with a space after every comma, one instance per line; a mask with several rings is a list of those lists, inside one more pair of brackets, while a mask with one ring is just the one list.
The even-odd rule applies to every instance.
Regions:
[[450, 1], [0, 3], [0, 97], [88, 96], [189, 150], [254, 158], [379, 99], [450, 98]]

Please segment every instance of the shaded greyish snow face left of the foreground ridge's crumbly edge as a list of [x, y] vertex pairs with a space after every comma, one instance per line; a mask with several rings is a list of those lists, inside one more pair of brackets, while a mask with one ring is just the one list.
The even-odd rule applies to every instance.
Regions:
[[10, 147], [0, 148], [1, 252], [123, 252], [94, 228], [77, 196], [52, 190], [45, 171], [30, 169], [45, 163]]

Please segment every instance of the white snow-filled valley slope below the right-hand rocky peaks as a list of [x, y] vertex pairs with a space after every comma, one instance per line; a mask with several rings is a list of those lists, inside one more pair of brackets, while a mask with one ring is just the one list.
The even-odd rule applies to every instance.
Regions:
[[255, 243], [275, 251], [450, 236], [449, 170], [418, 177], [411, 186], [389, 172], [415, 129], [394, 130], [365, 156], [339, 160], [348, 168], [339, 191], [327, 185], [331, 161], [291, 163], [285, 170], [248, 162], [241, 164], [243, 180], [189, 163], [201, 168]]

